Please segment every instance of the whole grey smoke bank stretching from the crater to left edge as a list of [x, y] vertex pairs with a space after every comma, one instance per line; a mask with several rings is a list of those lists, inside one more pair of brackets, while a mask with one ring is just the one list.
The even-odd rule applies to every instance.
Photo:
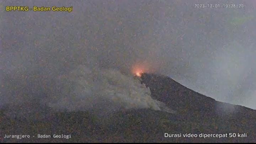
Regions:
[[0, 106], [9, 105], [12, 108], [8, 111], [21, 115], [33, 111], [26, 108], [30, 103], [46, 105], [54, 111], [94, 111], [101, 115], [131, 109], [174, 113], [164, 103], [152, 99], [150, 89], [132, 74], [114, 69], [79, 65], [66, 74], [49, 77], [11, 76], [14, 71], [1, 79]]

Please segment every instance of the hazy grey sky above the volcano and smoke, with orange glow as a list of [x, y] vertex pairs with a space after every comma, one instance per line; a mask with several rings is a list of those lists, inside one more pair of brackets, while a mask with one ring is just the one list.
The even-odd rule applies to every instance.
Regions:
[[[202, 3], [220, 8], [194, 8]], [[223, 8], [233, 3], [244, 8]], [[8, 5], [73, 6], [73, 12], [6, 12]], [[16, 93], [13, 85], [34, 87], [37, 94], [41, 79], [49, 83], [85, 65], [125, 75], [165, 74], [216, 100], [256, 109], [254, 0], [27, 0], [0, 6], [2, 99], [8, 90]]]

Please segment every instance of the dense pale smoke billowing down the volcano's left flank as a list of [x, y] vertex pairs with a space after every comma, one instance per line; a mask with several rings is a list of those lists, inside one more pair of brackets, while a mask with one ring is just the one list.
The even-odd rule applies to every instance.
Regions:
[[[132, 75], [123, 75], [117, 70], [78, 66], [67, 75], [59, 78], [62, 91], [57, 94], [49, 106], [54, 109], [101, 110], [105, 112], [121, 109], [150, 108], [161, 110], [159, 101], [151, 98], [149, 88], [141, 84]], [[66, 83], [69, 81], [69, 83]], [[72, 84], [72, 87], [70, 87]], [[66, 93], [69, 92], [69, 93]]]

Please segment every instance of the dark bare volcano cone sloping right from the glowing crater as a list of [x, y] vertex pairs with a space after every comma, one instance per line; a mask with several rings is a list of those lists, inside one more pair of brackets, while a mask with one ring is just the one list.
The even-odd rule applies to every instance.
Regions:
[[215, 101], [166, 76], [143, 74], [141, 82], [150, 88], [154, 99], [164, 102], [171, 109], [187, 116], [194, 116], [195, 112], [199, 112], [203, 117], [236, 115], [250, 118], [248, 116], [256, 115], [256, 110]]

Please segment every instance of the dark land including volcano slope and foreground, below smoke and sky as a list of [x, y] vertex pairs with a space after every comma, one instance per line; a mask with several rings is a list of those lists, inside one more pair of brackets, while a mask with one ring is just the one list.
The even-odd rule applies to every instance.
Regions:
[[[89, 112], [53, 112], [27, 103], [16, 109], [41, 110], [18, 117], [0, 111], [0, 142], [256, 142], [256, 110], [215, 101], [165, 76], [143, 74], [142, 83], [150, 88], [154, 99], [176, 113], [140, 109], [102, 118]], [[198, 137], [165, 138], [164, 133]], [[235, 138], [199, 138], [200, 133], [227, 133], [228, 137], [235, 133]], [[238, 137], [238, 133], [247, 137]], [[30, 138], [4, 139], [5, 134]], [[37, 138], [37, 134], [52, 138]], [[53, 134], [70, 134], [71, 138], [53, 138]]]

